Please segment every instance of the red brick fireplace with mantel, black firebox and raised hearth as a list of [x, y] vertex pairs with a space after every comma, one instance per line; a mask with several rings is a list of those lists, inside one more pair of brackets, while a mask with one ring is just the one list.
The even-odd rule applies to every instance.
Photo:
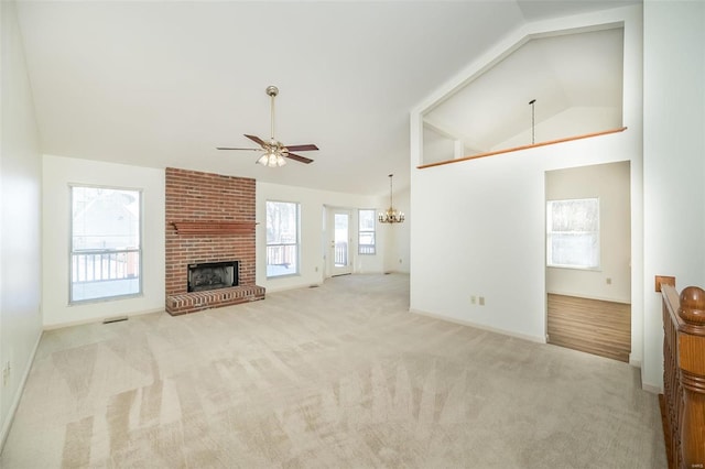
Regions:
[[[264, 298], [264, 288], [254, 284], [254, 179], [166, 168], [169, 314]], [[189, 292], [189, 268], [197, 264], [236, 265], [236, 281]]]

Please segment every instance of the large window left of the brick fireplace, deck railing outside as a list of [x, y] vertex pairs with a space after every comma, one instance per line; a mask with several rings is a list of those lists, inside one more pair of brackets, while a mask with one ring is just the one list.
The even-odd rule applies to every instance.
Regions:
[[69, 302], [142, 293], [140, 190], [73, 186]]

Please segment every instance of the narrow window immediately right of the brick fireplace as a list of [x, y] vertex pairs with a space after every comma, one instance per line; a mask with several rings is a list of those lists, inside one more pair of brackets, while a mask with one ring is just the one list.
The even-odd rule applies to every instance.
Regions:
[[267, 276], [299, 273], [299, 204], [267, 201]]

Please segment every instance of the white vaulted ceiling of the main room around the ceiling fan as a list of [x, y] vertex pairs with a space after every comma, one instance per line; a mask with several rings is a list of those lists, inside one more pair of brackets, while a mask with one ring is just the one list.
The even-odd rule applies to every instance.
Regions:
[[[409, 111], [527, 21], [616, 1], [20, 1], [42, 151], [384, 195], [409, 181]], [[243, 133], [316, 143], [256, 165]]]

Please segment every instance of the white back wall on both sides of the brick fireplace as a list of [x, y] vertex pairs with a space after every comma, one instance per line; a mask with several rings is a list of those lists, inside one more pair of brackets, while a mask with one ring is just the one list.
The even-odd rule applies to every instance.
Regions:
[[[43, 222], [43, 302], [44, 326], [101, 320], [117, 315], [132, 315], [163, 310], [164, 308], [164, 171], [140, 166], [102, 163], [91, 160], [63, 156], [44, 156]], [[69, 273], [69, 184], [101, 185], [143, 190], [143, 292], [135, 298], [68, 305]], [[408, 207], [408, 192], [400, 192], [400, 208]], [[280, 279], [267, 279], [267, 239], [264, 207], [267, 200], [296, 201], [301, 204], [301, 274]], [[395, 205], [397, 205], [397, 198]], [[360, 196], [303, 187], [257, 183], [257, 284], [268, 292], [306, 287], [325, 279], [323, 251], [327, 243], [323, 222], [324, 207], [348, 208], [357, 227], [357, 209], [387, 208], [387, 197]], [[405, 223], [403, 223], [405, 225]], [[400, 229], [397, 229], [400, 228]], [[409, 229], [377, 225], [378, 253], [355, 255], [355, 273], [409, 271]], [[389, 247], [389, 248], [388, 248]], [[387, 252], [391, 252], [391, 254]], [[388, 268], [388, 255], [395, 263]], [[399, 263], [399, 260], [402, 260]]]

